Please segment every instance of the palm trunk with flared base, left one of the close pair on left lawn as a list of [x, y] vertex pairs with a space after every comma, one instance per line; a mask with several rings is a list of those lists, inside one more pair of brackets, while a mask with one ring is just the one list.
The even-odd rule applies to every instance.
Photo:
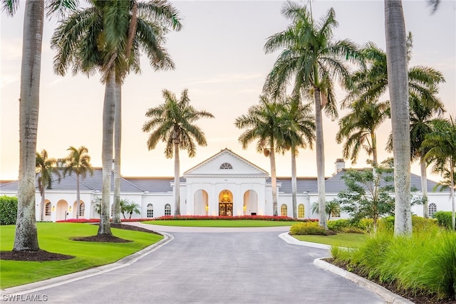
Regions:
[[113, 167], [113, 129], [115, 111], [115, 69], [110, 68], [105, 85], [105, 101], [103, 104], [103, 187], [101, 192], [100, 226], [98, 234], [112, 234], [109, 222], [109, 202], [111, 192], [111, 172]]

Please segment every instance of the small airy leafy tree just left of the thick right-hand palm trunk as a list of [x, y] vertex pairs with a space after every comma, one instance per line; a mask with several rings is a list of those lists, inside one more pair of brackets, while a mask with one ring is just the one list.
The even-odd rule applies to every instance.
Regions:
[[347, 170], [342, 177], [346, 191], [336, 199], [341, 209], [350, 214], [354, 221], [373, 219], [373, 231], [377, 232], [377, 221], [384, 214], [394, 214], [393, 169], [388, 166], [374, 169]]

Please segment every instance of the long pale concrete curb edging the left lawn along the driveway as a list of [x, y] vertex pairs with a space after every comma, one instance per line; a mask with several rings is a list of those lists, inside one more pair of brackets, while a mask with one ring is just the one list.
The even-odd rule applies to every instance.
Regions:
[[164, 236], [161, 241], [154, 243], [138, 252], [131, 254], [130, 256], [125, 256], [125, 258], [121, 258], [119, 261], [115, 263], [110, 263], [103, 266], [98, 266], [95, 268], [87, 269], [86, 271], [80, 271], [77, 273], [70, 273], [64, 276], [58, 276], [56, 278], [49, 278], [47, 280], [38, 281], [35, 283], [29, 283], [25, 285], [19, 285], [11, 288], [5, 288], [1, 290], [1, 294], [14, 294], [14, 295], [24, 295], [26, 293], [34, 293], [39, 290], [44, 290], [47, 288], [55, 287], [58, 285], [63, 285], [67, 283], [71, 283], [74, 281], [81, 280], [83, 278], [89, 278], [91, 276], [97, 276], [101, 273], [107, 273], [109, 271], [113, 271], [118, 268], [123, 268], [125, 266], [131, 265], [138, 261], [140, 258], [147, 256], [147, 254], [156, 251], [158, 248], [165, 246], [167, 243], [174, 239], [174, 236], [171, 234], [160, 233]]

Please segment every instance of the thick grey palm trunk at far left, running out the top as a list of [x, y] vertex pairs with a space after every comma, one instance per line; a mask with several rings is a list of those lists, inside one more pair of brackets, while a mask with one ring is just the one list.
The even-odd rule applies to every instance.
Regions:
[[35, 166], [43, 22], [44, 1], [28, 0], [22, 43], [19, 189], [13, 251], [39, 250], [35, 214]]

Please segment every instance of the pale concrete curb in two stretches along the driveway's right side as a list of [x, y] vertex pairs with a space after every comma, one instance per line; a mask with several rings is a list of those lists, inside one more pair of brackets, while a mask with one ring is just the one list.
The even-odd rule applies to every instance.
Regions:
[[[331, 246], [329, 246], [329, 245], [323, 245], [320, 243], [311, 243], [311, 242], [306, 242], [306, 241], [299, 241], [299, 240], [295, 239], [293, 236], [290, 236], [288, 233], [279, 234], [279, 237], [281, 239], [283, 239], [284, 241], [286, 241], [286, 243], [291, 243], [293, 245], [326, 249], [328, 251], [328, 253], [331, 250]], [[396, 295], [395, 293], [384, 288], [383, 286], [373, 283], [372, 281], [366, 280], [366, 278], [361, 278], [361, 276], [357, 276], [356, 274], [351, 273], [349, 271], [345, 271], [342, 268], [338, 268], [337, 266], [334, 266], [331, 263], [323, 261], [323, 258], [316, 258], [314, 260], [314, 265], [325, 271], [331, 271], [332, 273], [335, 273], [338, 276], [346, 278], [347, 280], [350, 280], [353, 283], [356, 283], [357, 285], [360, 285], [363, 288], [370, 290], [371, 292], [373, 292], [373, 293], [379, 295], [381, 298], [383, 298], [383, 300], [385, 300], [386, 303], [413, 304], [412, 301], [407, 300], [406, 298], [403, 298], [400, 295]]]

